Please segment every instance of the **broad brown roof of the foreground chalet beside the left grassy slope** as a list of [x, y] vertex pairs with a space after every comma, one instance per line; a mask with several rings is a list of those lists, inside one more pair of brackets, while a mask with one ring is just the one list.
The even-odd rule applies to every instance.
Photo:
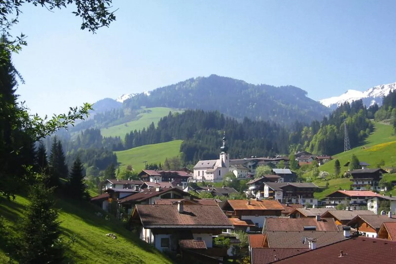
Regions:
[[138, 204], [132, 217], [146, 228], [232, 228], [217, 205], [183, 205], [179, 213], [177, 205]]

